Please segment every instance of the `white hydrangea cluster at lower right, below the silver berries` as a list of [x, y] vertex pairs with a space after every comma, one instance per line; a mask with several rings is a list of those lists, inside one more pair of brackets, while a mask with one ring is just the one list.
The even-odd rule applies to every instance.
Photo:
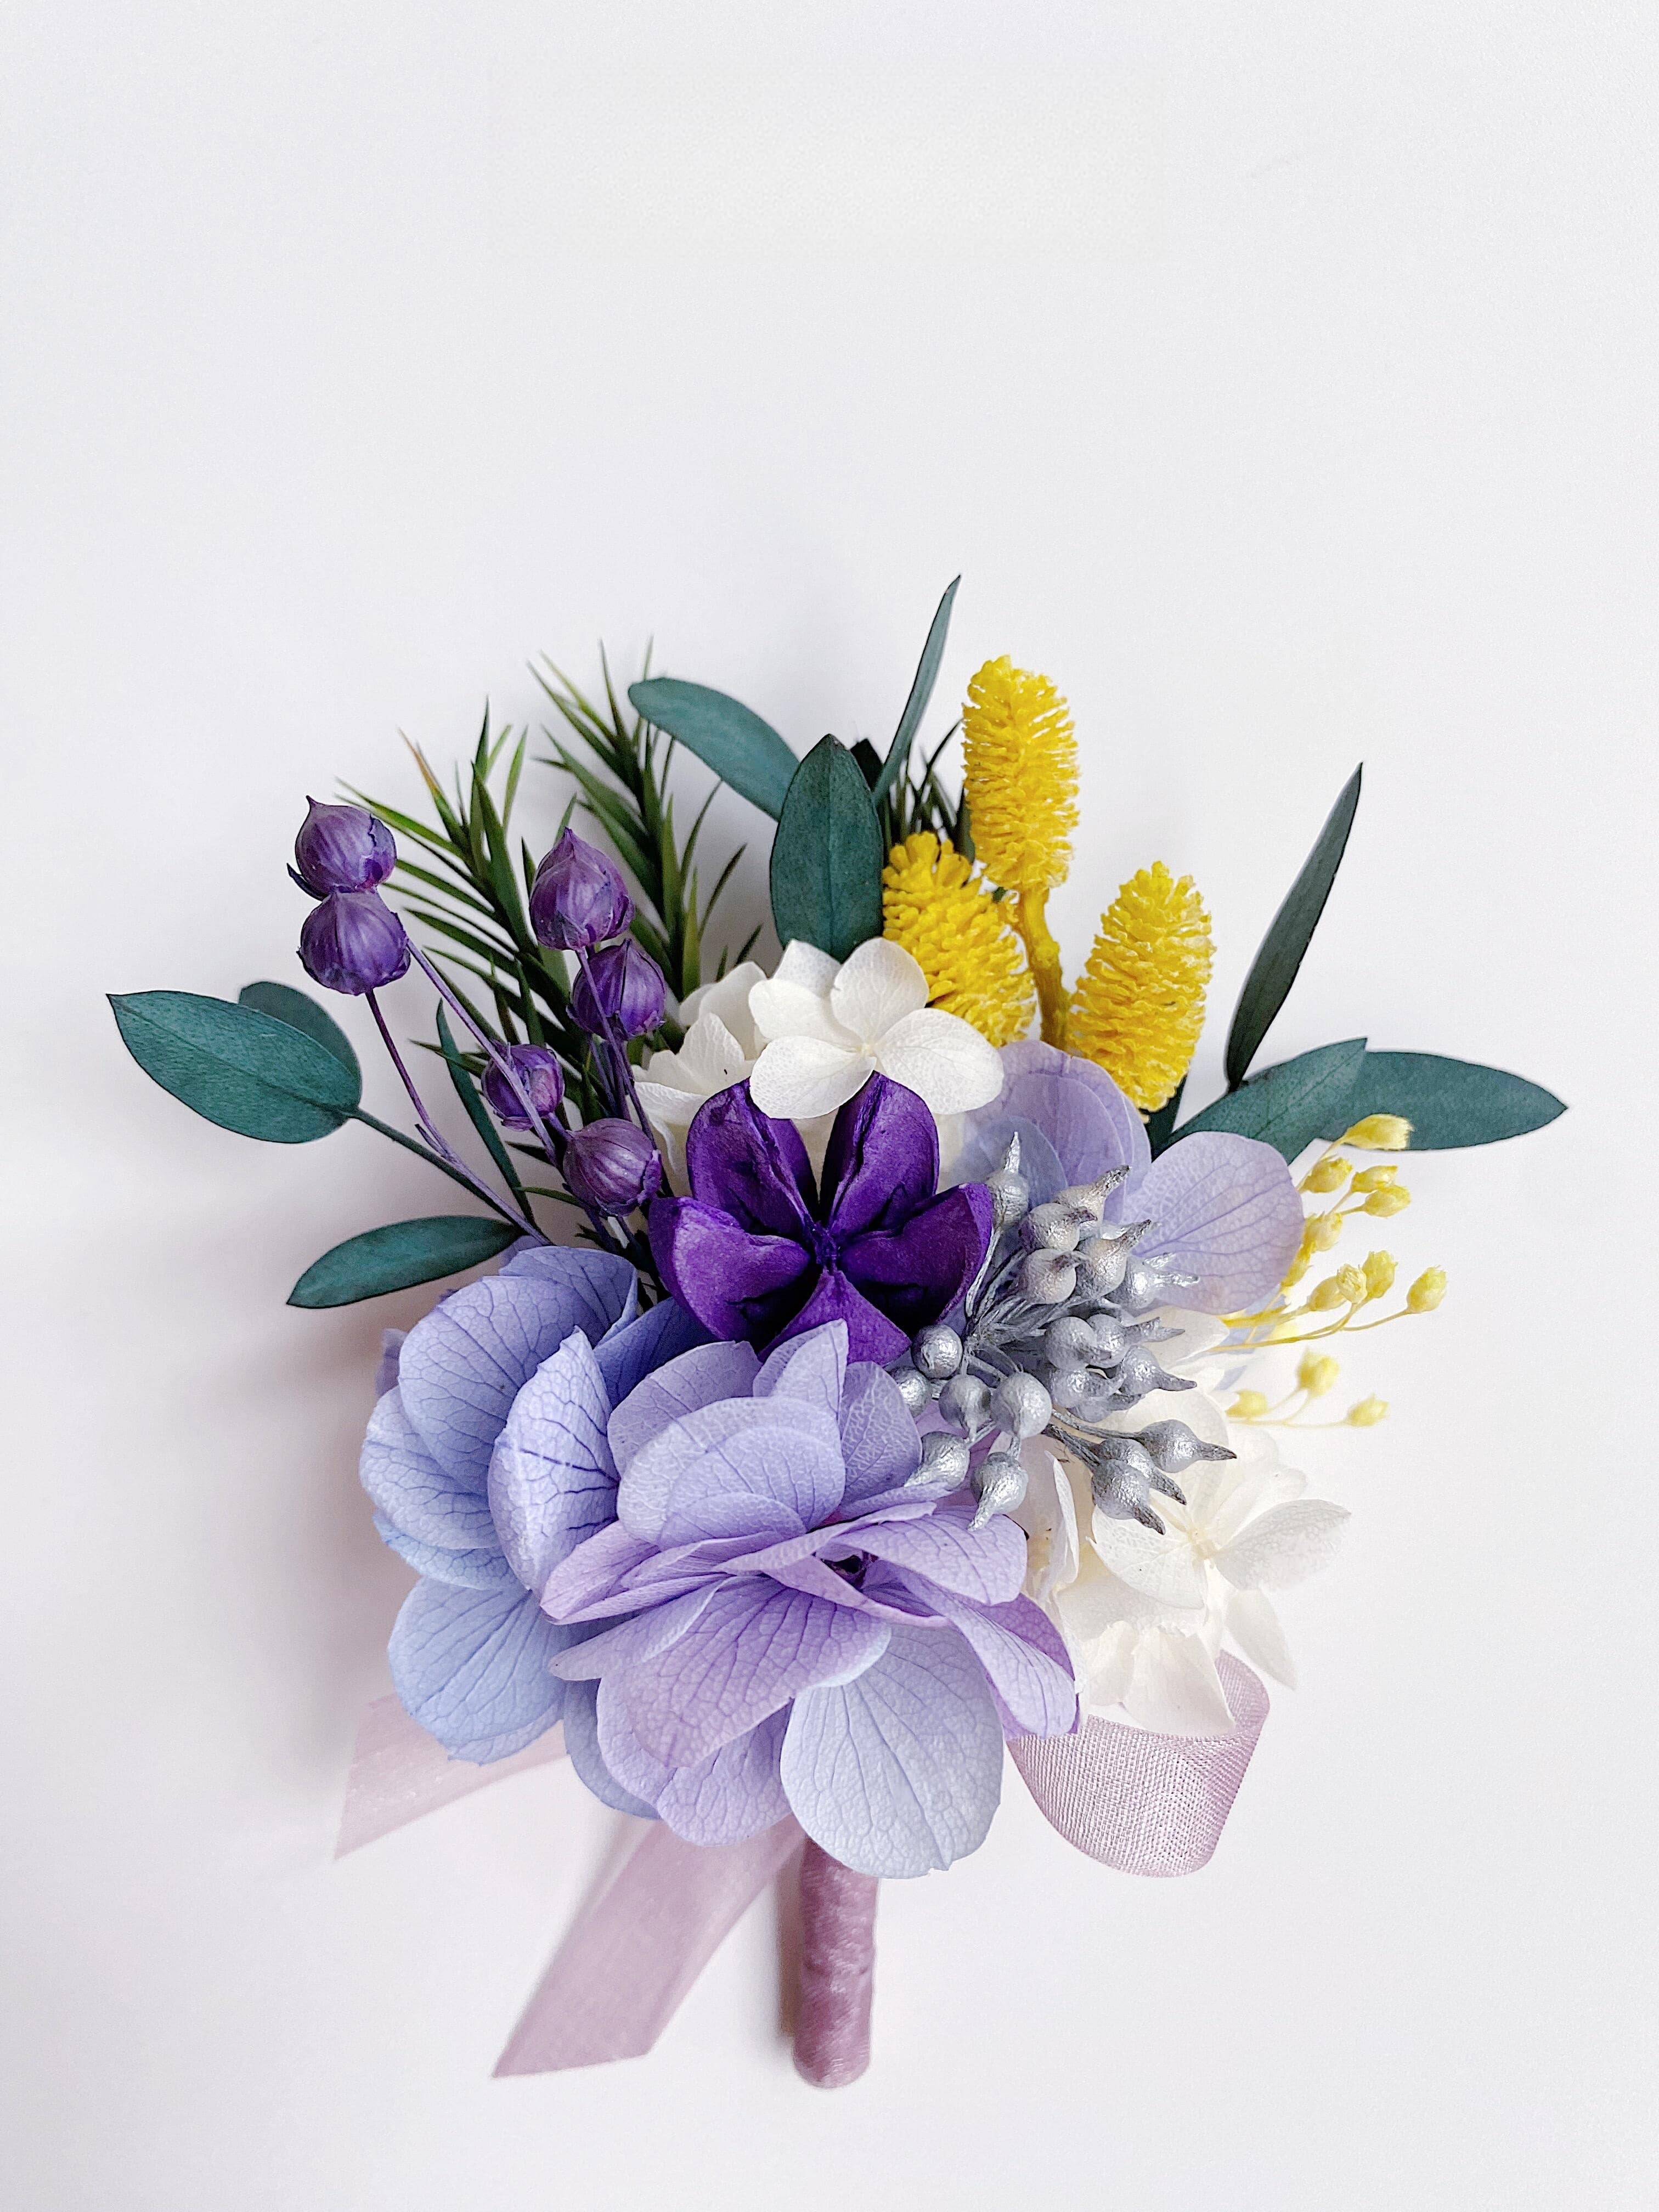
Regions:
[[[1210, 1380], [1221, 1329], [1206, 1314], [1159, 1316], [1183, 1329], [1188, 1356], [1161, 1349], [1172, 1374]], [[1060, 1626], [1084, 1688], [1084, 1708], [1172, 1736], [1232, 1730], [1217, 1652], [1232, 1641], [1274, 1681], [1296, 1670], [1267, 1590], [1316, 1573], [1336, 1551], [1347, 1511], [1305, 1498], [1307, 1480], [1279, 1460], [1270, 1433], [1230, 1422], [1212, 1391], [1157, 1391], [1104, 1427], [1144, 1429], [1183, 1420], [1234, 1460], [1179, 1475], [1186, 1504], [1157, 1500], [1166, 1528], [1113, 1520], [1095, 1509], [1088, 1469], [1046, 1444], [1026, 1447], [1026, 1593]]]

